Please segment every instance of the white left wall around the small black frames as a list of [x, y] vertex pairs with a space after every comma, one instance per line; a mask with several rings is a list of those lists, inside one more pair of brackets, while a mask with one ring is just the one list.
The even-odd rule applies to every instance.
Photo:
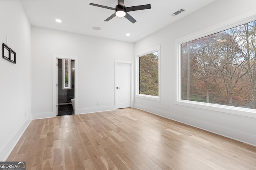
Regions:
[[[5, 161], [31, 121], [31, 27], [19, 0], [1, 0], [0, 16], [0, 161]], [[2, 58], [6, 37], [16, 64]]]

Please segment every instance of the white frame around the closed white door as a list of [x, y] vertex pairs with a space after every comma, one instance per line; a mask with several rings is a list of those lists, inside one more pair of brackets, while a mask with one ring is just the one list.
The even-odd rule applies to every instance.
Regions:
[[132, 61], [118, 61], [115, 60], [115, 76], [114, 76], [114, 108], [117, 108], [117, 92], [116, 92], [116, 87], [117, 87], [117, 64], [130, 64], [130, 104], [131, 108], [134, 107], [134, 63]]

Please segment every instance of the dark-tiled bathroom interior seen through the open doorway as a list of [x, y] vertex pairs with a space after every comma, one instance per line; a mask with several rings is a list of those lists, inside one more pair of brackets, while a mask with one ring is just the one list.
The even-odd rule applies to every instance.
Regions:
[[75, 61], [58, 59], [58, 113], [57, 116], [75, 114]]

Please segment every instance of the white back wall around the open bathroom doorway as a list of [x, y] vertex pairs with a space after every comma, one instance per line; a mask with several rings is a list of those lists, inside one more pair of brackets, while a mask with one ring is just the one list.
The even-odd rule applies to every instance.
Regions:
[[53, 55], [78, 57], [78, 114], [106, 111], [114, 109], [114, 60], [134, 61], [134, 43], [32, 26], [33, 119], [53, 112]]

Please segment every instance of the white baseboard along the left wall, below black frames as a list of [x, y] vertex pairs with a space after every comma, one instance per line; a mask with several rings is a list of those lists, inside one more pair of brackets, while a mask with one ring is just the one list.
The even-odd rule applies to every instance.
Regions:
[[15, 145], [20, 140], [20, 137], [23, 135], [24, 131], [27, 129], [28, 125], [32, 121], [32, 116], [30, 115], [26, 121], [20, 126], [18, 131], [12, 136], [12, 138], [8, 141], [8, 143], [4, 146], [4, 148], [0, 152], [0, 161], [6, 161]]

